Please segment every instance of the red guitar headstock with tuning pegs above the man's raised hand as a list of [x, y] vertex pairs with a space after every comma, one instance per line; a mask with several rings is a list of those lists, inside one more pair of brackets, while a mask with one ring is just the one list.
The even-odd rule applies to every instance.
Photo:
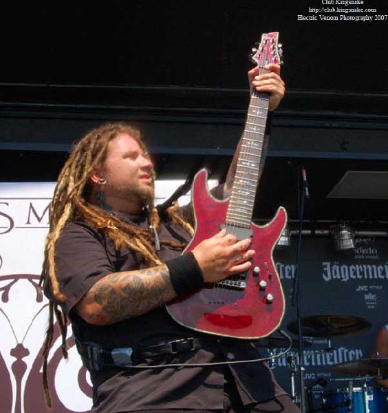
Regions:
[[269, 63], [283, 65], [283, 50], [281, 43], [278, 43], [279, 32], [261, 34], [260, 43], [256, 43], [249, 55], [250, 61], [259, 67], [264, 67]]

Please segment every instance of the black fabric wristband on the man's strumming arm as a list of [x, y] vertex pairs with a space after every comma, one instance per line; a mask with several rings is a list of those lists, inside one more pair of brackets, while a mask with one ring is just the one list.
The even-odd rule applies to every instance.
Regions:
[[204, 285], [202, 270], [193, 253], [186, 253], [167, 261], [171, 284], [178, 297], [191, 293]]

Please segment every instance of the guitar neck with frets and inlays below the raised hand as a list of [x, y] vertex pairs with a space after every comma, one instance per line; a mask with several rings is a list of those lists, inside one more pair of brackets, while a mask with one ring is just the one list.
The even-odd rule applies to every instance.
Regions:
[[249, 228], [257, 184], [263, 167], [263, 145], [268, 117], [269, 94], [252, 91], [237, 168], [226, 212], [226, 225]]

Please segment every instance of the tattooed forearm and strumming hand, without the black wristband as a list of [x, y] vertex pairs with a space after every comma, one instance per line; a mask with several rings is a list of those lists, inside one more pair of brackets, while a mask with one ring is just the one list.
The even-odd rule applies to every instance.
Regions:
[[[250, 268], [255, 251], [250, 240], [237, 241], [223, 229], [191, 251], [204, 282], [217, 282]], [[105, 275], [76, 304], [78, 315], [90, 324], [113, 324], [147, 313], [176, 296], [166, 265]]]

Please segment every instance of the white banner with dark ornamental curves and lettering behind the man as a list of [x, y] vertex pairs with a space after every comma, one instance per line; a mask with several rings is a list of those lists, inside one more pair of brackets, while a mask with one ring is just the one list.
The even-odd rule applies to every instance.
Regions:
[[[157, 181], [156, 204], [184, 180]], [[217, 182], [209, 182], [209, 187]], [[45, 412], [42, 344], [48, 301], [39, 284], [54, 182], [0, 183], [0, 386], [1, 413]], [[190, 193], [180, 204], [190, 200]], [[67, 337], [72, 336], [69, 328]], [[55, 413], [87, 412], [91, 407], [89, 375], [74, 342], [61, 358], [56, 337], [49, 357], [49, 379]]]

